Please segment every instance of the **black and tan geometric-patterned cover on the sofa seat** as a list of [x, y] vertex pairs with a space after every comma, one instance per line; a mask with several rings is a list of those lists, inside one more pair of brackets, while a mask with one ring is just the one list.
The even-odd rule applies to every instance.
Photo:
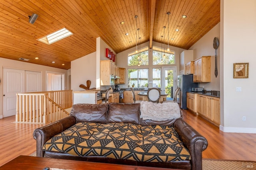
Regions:
[[55, 135], [44, 150], [142, 162], [190, 160], [173, 127], [79, 122]]

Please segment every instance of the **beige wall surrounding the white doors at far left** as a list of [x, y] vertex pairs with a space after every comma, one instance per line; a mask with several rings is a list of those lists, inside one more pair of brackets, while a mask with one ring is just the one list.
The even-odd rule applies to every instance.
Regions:
[[2, 117], [2, 102], [3, 102], [3, 68], [14, 68], [20, 70], [29, 70], [29, 71], [37, 71], [41, 72], [41, 82], [42, 82], [42, 91], [46, 91], [46, 72], [58, 72], [65, 74], [65, 90], [68, 90], [68, 70], [54, 68], [50, 66], [43, 66], [39, 64], [31, 64], [23, 61], [15, 61], [0, 58], [0, 118]]

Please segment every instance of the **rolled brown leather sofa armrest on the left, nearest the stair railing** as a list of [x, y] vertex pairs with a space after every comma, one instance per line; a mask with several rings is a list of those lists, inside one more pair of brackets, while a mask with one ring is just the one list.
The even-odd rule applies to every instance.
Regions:
[[34, 139], [36, 139], [36, 156], [43, 157], [44, 144], [54, 135], [61, 133], [62, 131], [68, 129], [74, 124], [76, 124], [76, 118], [70, 115], [54, 123], [50, 123], [49, 125], [45, 125], [43, 127], [35, 129], [33, 137]]

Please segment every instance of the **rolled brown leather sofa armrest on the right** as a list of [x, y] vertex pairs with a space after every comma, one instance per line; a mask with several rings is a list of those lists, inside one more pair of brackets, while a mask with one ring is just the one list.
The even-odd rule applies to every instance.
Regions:
[[191, 169], [202, 170], [202, 151], [208, 146], [208, 141], [183, 119], [174, 122], [174, 129], [178, 133], [182, 144], [189, 150]]

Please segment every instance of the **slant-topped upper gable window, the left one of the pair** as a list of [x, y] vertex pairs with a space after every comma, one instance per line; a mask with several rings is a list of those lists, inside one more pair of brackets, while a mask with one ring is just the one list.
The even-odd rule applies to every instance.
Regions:
[[128, 66], [138, 66], [139, 61], [140, 65], [148, 65], [148, 47], [140, 49], [139, 53], [134, 51], [128, 54]]

